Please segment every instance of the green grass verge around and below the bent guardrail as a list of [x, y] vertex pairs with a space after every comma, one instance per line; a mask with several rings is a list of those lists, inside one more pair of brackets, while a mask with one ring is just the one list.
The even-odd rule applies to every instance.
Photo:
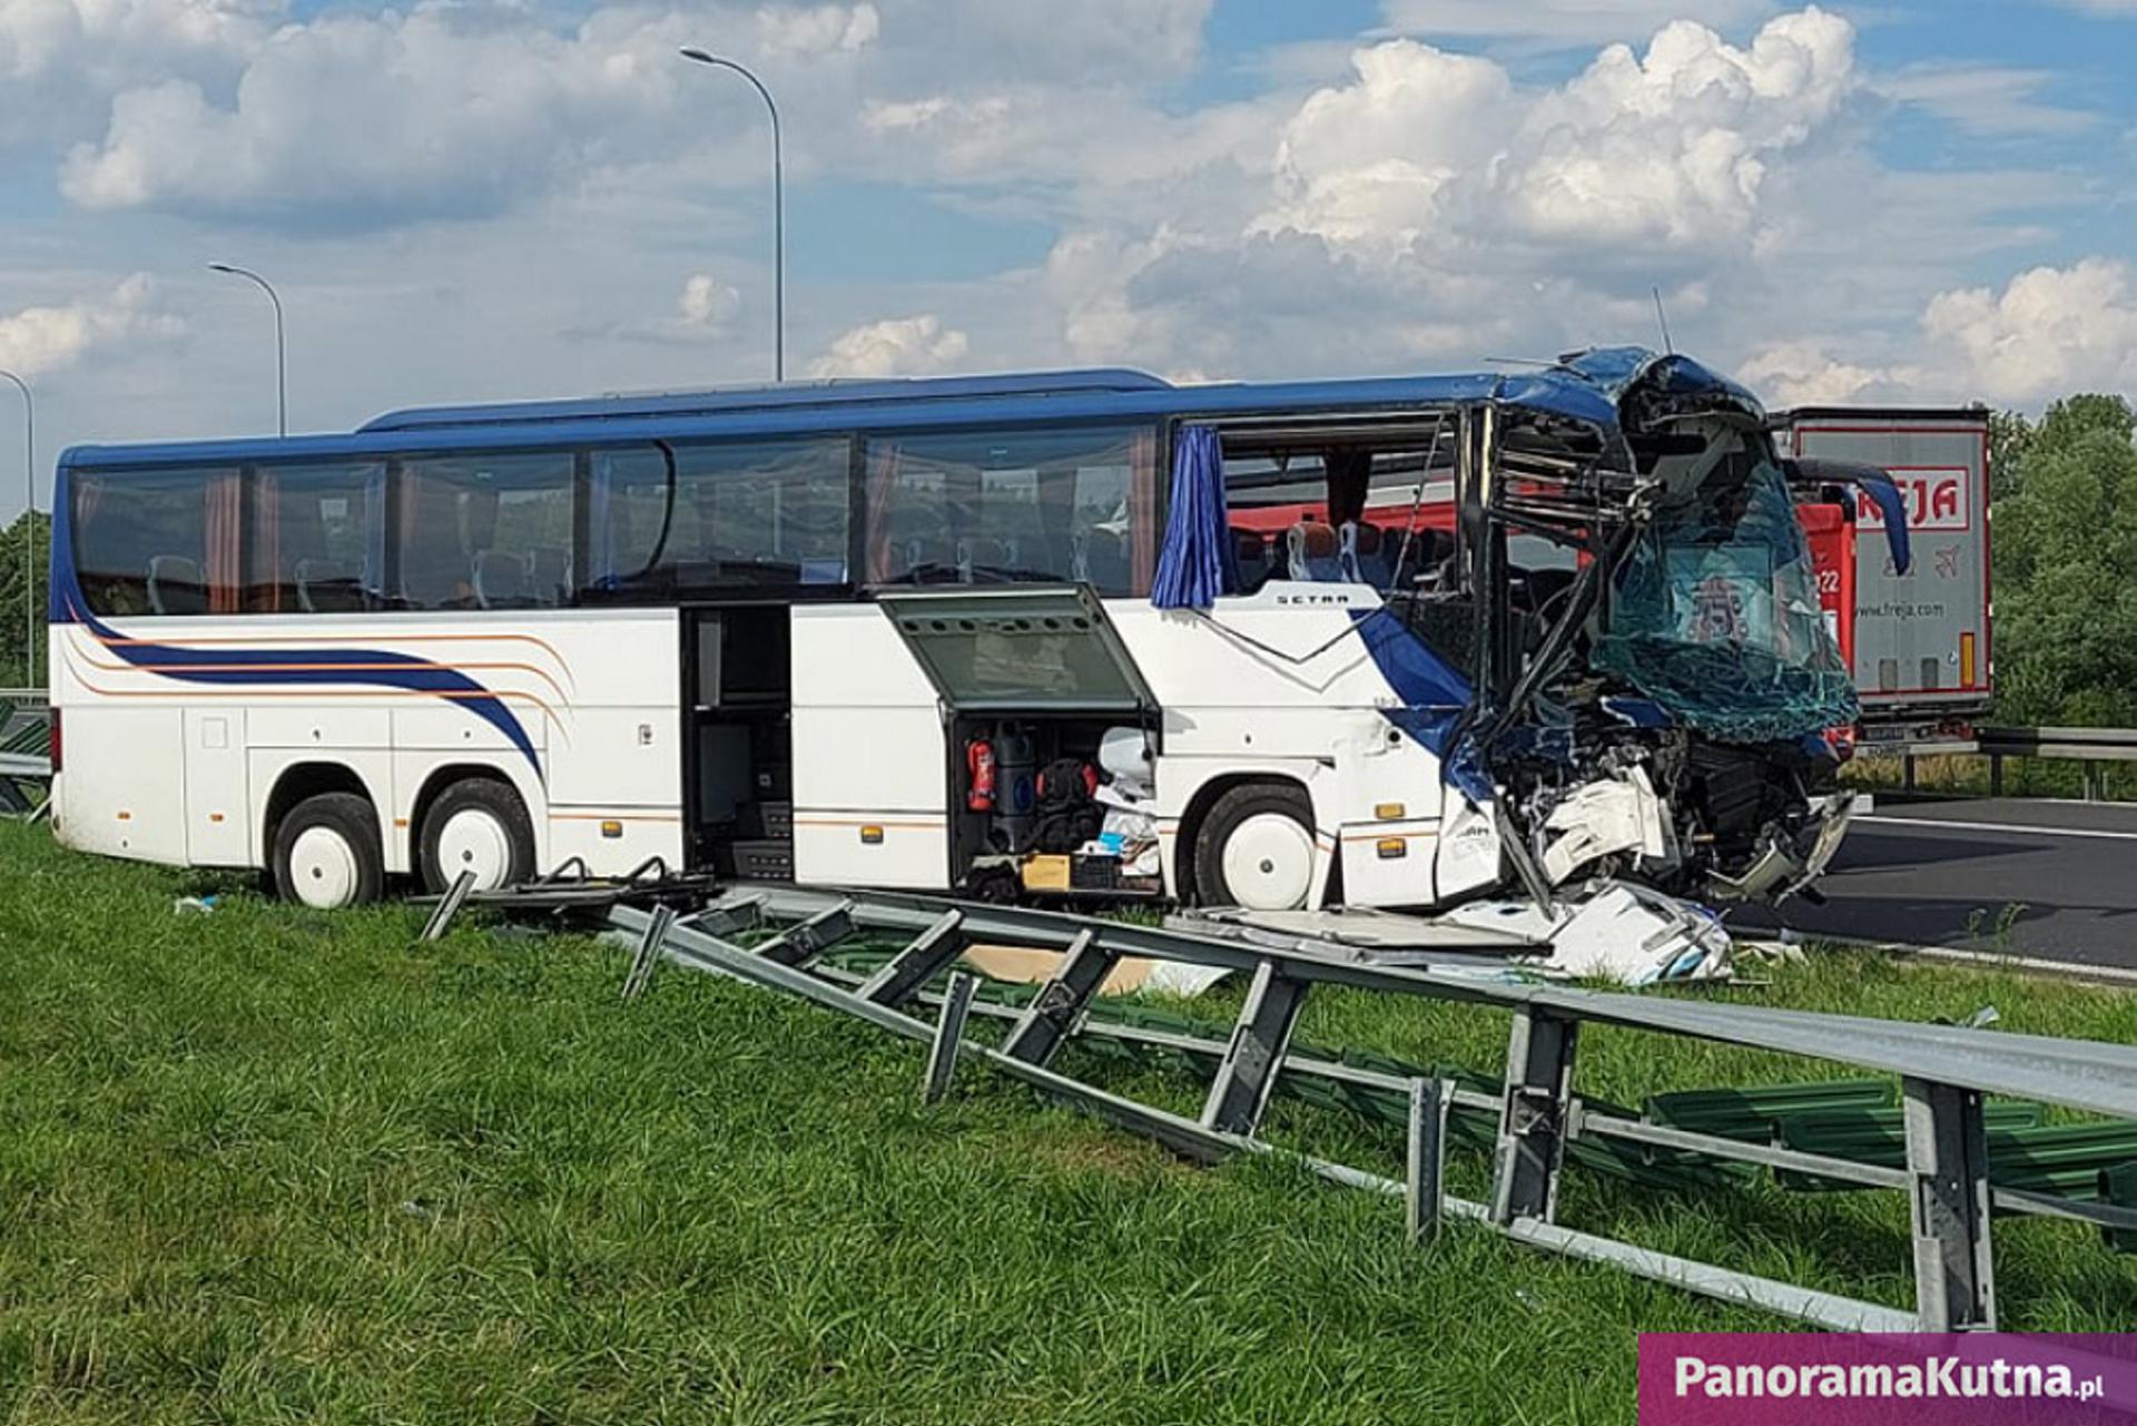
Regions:
[[[675, 968], [622, 1005], [590, 941], [173, 915], [194, 889], [0, 825], [0, 1422], [1631, 1422], [1637, 1330], [1782, 1326], [1477, 1229], [1413, 1251], [1385, 1199], [1190, 1169], [985, 1071], [923, 1110], [915, 1045]], [[1853, 956], [1727, 994], [2137, 1035], [2126, 996]], [[1504, 1028], [1331, 996], [1304, 1033], [1489, 1069]], [[1590, 1033], [1579, 1082], [1814, 1073]], [[1272, 1133], [1398, 1152], [1295, 1103]], [[1908, 1291], [1898, 1195], [1571, 1178], [1564, 1216]], [[2011, 1326], [2137, 1323], [2084, 1229], [1996, 1231]]]

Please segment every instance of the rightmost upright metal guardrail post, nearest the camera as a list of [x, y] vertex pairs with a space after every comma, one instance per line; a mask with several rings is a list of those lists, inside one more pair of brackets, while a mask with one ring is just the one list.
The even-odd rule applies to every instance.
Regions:
[[1915, 1227], [1915, 1311], [1923, 1332], [1994, 1332], [1990, 1150], [1981, 1092], [1904, 1078], [1908, 1216]]

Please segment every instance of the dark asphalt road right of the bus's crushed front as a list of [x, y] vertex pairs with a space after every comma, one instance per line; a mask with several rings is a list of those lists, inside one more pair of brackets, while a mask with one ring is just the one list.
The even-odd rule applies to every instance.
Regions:
[[2137, 806], [1878, 793], [1819, 892], [1729, 919], [2137, 971]]

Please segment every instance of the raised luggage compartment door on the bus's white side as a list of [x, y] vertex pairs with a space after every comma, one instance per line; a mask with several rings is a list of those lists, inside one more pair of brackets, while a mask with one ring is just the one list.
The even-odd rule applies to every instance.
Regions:
[[953, 714], [1156, 710], [1120, 631], [1083, 586], [883, 594], [891, 626]]

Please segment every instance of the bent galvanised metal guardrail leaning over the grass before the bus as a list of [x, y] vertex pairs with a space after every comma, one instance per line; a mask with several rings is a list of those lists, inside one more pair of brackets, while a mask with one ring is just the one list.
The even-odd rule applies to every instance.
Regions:
[[[793, 887], [752, 887], [733, 892], [707, 911], [680, 921], [615, 906], [611, 926], [641, 939], [641, 960], [662, 956], [701, 971], [733, 975], [857, 1016], [893, 1035], [932, 1043], [930, 1095], [940, 1092], [960, 1054], [970, 1056], [1197, 1161], [1216, 1161], [1239, 1152], [1280, 1154], [1323, 1178], [1404, 1197], [1410, 1204], [1413, 1227], [1438, 1223], [1440, 1216], [1468, 1219], [1532, 1246], [1616, 1264], [1645, 1278], [1827, 1328], [1874, 1332], [1994, 1328], [1992, 1208], [2079, 1219], [2116, 1229], [2137, 1227], [2137, 1212], [2128, 1208], [1994, 1189], [1987, 1174], [1983, 1129], [1985, 1095], [2011, 1095], [2137, 1120], [2137, 1048], [2128, 1045], [1857, 1016], [1641, 998], [1556, 986], [1485, 983], [1175, 928], [1160, 930], [1051, 911], [874, 892], [842, 896]], [[763, 926], [774, 934], [750, 947], [727, 939], [752, 926]], [[910, 941], [883, 968], [865, 977], [816, 964], [825, 951], [861, 930], [895, 932], [910, 936]], [[949, 990], [940, 994], [927, 990], [932, 981], [951, 973], [957, 956], [972, 943], [1062, 951], [1054, 979], [1028, 1007], [992, 1011], [1015, 1016], [1000, 1048], [970, 1041], [964, 1035], [966, 1011], [989, 1011], [989, 1007], [970, 1003], [968, 977], [953, 975]], [[1126, 956], [1246, 973], [1250, 986], [1229, 1041], [1154, 1037], [1150, 1030], [1109, 1026], [1088, 1018], [1086, 1011], [1098, 986]], [[1366, 1071], [1323, 1060], [1306, 1063], [1293, 1054], [1291, 1030], [1314, 986], [1413, 994], [1513, 1011], [1504, 1088], [1485, 1099], [1500, 1116], [1487, 1204], [1447, 1197], [1438, 1189], [1447, 1103], [1477, 1099], [1475, 1090], [1451, 1090], [1442, 1082], [1425, 1080], [1404, 1082], [1410, 1088], [1413, 1105], [1408, 1182], [1282, 1150], [1254, 1137], [1276, 1078], [1286, 1069], [1323, 1075], [1333, 1071], [1338, 1078], [1366, 1075]], [[643, 986], [639, 988], [643, 990]], [[934, 1024], [910, 1013], [912, 1007], [925, 1003], [942, 1005], [942, 1016]], [[1750, 1144], [1592, 1112], [1573, 1092], [1573, 1060], [1581, 1024], [1684, 1035], [1900, 1075], [1906, 1165], [1866, 1165], [1831, 1154]], [[1173, 1043], [1173, 1048], [1216, 1060], [1201, 1116], [1186, 1118], [1135, 1103], [1051, 1069], [1060, 1045], [1075, 1035]], [[1383, 1075], [1368, 1078], [1383, 1080]], [[1391, 1088], [1393, 1084], [1378, 1086]], [[1673, 1257], [1556, 1223], [1558, 1180], [1566, 1163], [1566, 1146], [1581, 1137], [1697, 1150], [1718, 1159], [1908, 1193], [1915, 1311], [1904, 1313], [1876, 1302]]]

